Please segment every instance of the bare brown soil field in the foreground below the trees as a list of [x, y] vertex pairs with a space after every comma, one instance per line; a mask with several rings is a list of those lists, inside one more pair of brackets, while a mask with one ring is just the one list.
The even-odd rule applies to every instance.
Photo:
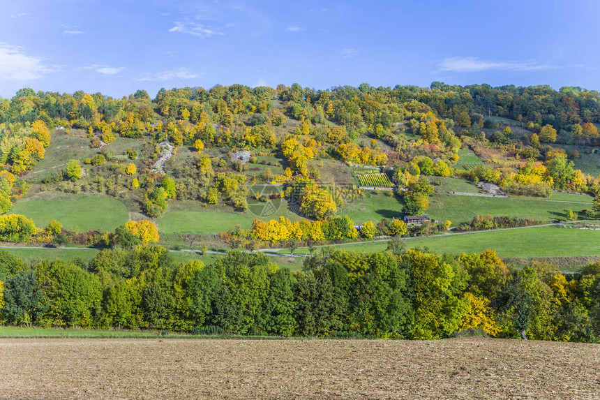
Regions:
[[0, 371], [3, 399], [598, 399], [600, 346], [1, 339]]

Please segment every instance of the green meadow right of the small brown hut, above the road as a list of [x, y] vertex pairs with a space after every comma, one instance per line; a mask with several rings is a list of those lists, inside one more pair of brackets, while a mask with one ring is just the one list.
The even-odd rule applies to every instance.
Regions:
[[426, 214], [438, 221], [450, 220], [453, 225], [485, 214], [552, 222], [564, 221], [568, 209], [578, 212], [591, 207], [590, 196], [569, 193], [553, 193], [549, 198], [485, 198], [436, 193], [430, 198]]

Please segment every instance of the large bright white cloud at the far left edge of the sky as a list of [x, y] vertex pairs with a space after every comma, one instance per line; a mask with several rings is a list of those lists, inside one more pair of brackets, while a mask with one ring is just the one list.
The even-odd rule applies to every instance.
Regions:
[[21, 47], [0, 43], [0, 79], [34, 80], [44, 77], [49, 68], [42, 59], [25, 54]]

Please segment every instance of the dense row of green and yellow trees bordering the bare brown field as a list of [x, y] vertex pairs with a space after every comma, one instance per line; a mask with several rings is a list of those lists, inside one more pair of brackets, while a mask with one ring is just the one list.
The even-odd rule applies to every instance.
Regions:
[[160, 246], [104, 250], [89, 263], [26, 265], [0, 251], [1, 318], [13, 325], [171, 329], [276, 336], [439, 339], [473, 329], [495, 337], [600, 340], [600, 262], [577, 274], [494, 251], [327, 249], [301, 271], [232, 251], [204, 265]]

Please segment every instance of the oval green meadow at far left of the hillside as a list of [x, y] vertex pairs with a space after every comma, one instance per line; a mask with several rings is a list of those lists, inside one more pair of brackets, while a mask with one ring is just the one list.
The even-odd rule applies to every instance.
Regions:
[[23, 214], [33, 219], [38, 227], [56, 219], [64, 228], [80, 231], [114, 230], [128, 220], [127, 207], [114, 198], [105, 196], [65, 195], [50, 199], [24, 199], [15, 203], [11, 214]]

